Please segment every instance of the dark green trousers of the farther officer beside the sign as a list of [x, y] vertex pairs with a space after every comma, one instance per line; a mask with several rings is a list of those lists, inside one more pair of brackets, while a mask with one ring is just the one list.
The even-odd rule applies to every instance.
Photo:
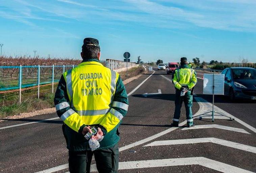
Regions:
[[193, 96], [191, 95], [191, 91], [186, 92], [185, 96], [180, 96], [179, 90], [176, 90], [175, 93], [175, 112], [173, 117], [173, 124], [178, 125], [179, 124], [179, 118], [180, 118], [180, 109], [182, 102], [185, 104], [186, 108], [186, 117], [187, 117], [187, 125], [191, 126], [193, 125], [193, 114], [192, 114], [192, 103], [193, 103]]

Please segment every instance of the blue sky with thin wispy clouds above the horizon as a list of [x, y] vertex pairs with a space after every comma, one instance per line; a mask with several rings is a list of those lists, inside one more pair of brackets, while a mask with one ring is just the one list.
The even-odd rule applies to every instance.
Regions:
[[83, 38], [102, 60], [256, 62], [256, 0], [0, 0], [4, 55], [79, 59]]

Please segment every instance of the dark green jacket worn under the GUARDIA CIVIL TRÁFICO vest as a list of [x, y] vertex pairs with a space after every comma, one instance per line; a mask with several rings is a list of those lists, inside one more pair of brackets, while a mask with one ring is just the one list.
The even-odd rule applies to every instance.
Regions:
[[[89, 59], [84, 60], [85, 61], [97, 61], [96, 59]], [[113, 101], [122, 102], [128, 104], [128, 96], [125, 90], [125, 86], [123, 84], [122, 79], [118, 78], [117, 84], [116, 84], [116, 93], [114, 94]], [[63, 77], [63, 75], [60, 78], [55, 97], [54, 97], [54, 104], [57, 105], [62, 102], [70, 102], [68, 94], [67, 94], [67, 86], [66, 81]], [[119, 111], [123, 116], [126, 115], [127, 111], [118, 107], [113, 107], [117, 111]], [[60, 117], [64, 112], [66, 112], [70, 107], [66, 109], [61, 109], [57, 111], [58, 116]], [[116, 145], [120, 139], [119, 137], [119, 125], [122, 123], [122, 121], [110, 132], [107, 133], [106, 129], [100, 125], [98, 126], [102, 129], [103, 133], [105, 134], [104, 139], [100, 142], [100, 148], [99, 149], [105, 149], [110, 148]], [[93, 126], [93, 125], [90, 125]], [[70, 151], [85, 151], [85, 150], [91, 150], [89, 148], [88, 141], [84, 138], [84, 135], [82, 135], [82, 129], [84, 126], [82, 126], [78, 133], [71, 128], [69, 128], [67, 125], [63, 124], [62, 130], [63, 134], [65, 136], [66, 142], [67, 142], [67, 148]]]

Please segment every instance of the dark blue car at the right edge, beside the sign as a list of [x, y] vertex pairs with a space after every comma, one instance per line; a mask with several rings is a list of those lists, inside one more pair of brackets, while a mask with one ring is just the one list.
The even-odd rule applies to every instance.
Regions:
[[224, 69], [222, 74], [225, 74], [224, 94], [229, 96], [230, 100], [256, 100], [256, 69], [231, 67]]

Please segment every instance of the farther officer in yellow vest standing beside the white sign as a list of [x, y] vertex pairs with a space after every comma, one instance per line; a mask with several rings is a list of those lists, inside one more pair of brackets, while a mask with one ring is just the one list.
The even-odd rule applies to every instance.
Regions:
[[[173, 117], [172, 126], [178, 127], [180, 118], [180, 109], [182, 102], [184, 101], [186, 108], [187, 126], [194, 126], [192, 103], [193, 95], [191, 94], [192, 88], [197, 84], [197, 74], [195, 70], [191, 69], [187, 65], [187, 58], [182, 57], [180, 59], [180, 67], [173, 72], [173, 84], [176, 89], [175, 94], [175, 112]], [[186, 91], [184, 96], [180, 96], [181, 91]]]

